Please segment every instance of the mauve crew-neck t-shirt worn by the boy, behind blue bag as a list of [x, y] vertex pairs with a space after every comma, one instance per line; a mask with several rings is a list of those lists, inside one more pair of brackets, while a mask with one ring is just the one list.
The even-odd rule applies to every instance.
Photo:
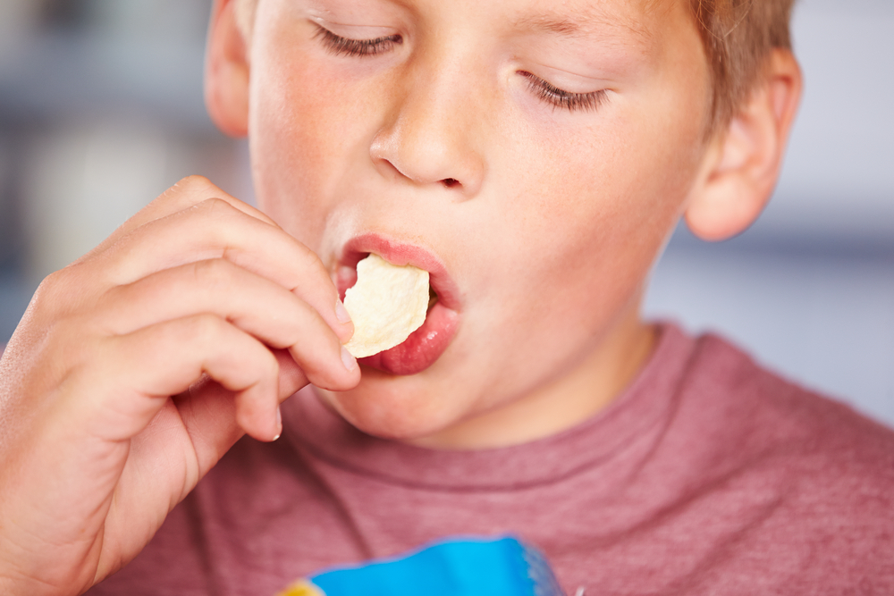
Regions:
[[565, 592], [894, 594], [894, 432], [663, 325], [611, 406], [524, 445], [358, 432], [303, 390], [90, 594], [273, 596], [457, 535], [540, 548]]

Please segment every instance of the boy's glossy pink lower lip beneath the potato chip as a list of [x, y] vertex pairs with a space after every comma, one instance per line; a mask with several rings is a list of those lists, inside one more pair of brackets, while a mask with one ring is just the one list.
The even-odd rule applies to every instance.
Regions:
[[428, 310], [426, 322], [403, 343], [370, 357], [360, 358], [361, 365], [389, 374], [417, 374], [434, 364], [450, 345], [456, 333], [459, 315], [435, 302]]

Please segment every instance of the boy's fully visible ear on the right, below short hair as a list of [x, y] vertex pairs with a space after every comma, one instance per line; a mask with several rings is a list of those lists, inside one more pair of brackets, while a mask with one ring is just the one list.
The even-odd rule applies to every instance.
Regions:
[[745, 105], [713, 139], [686, 207], [686, 222], [705, 240], [744, 231], [770, 200], [801, 97], [801, 70], [774, 50]]

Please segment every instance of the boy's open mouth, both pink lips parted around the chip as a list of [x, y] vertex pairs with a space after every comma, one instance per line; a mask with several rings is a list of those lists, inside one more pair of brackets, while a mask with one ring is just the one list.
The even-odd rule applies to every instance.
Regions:
[[339, 294], [357, 281], [357, 264], [369, 253], [392, 264], [412, 264], [429, 273], [426, 321], [394, 348], [374, 356], [359, 358], [362, 366], [389, 374], [417, 374], [437, 361], [456, 334], [460, 319], [459, 292], [437, 257], [424, 248], [368, 234], [351, 239], [339, 258], [336, 284]]

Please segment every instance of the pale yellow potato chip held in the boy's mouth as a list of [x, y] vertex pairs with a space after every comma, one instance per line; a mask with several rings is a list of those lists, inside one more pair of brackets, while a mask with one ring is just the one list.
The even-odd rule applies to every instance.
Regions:
[[345, 344], [353, 357], [393, 348], [426, 321], [428, 272], [370, 254], [357, 264], [357, 283], [345, 292], [344, 307], [354, 322]]

